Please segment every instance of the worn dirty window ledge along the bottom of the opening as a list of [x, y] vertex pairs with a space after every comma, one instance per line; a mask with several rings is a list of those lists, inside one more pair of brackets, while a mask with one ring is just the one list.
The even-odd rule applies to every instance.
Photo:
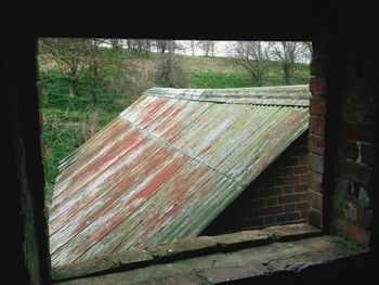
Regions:
[[[182, 239], [52, 269], [58, 284], [219, 284], [301, 273], [368, 249], [309, 224]], [[65, 280], [65, 281], [64, 281]]]

